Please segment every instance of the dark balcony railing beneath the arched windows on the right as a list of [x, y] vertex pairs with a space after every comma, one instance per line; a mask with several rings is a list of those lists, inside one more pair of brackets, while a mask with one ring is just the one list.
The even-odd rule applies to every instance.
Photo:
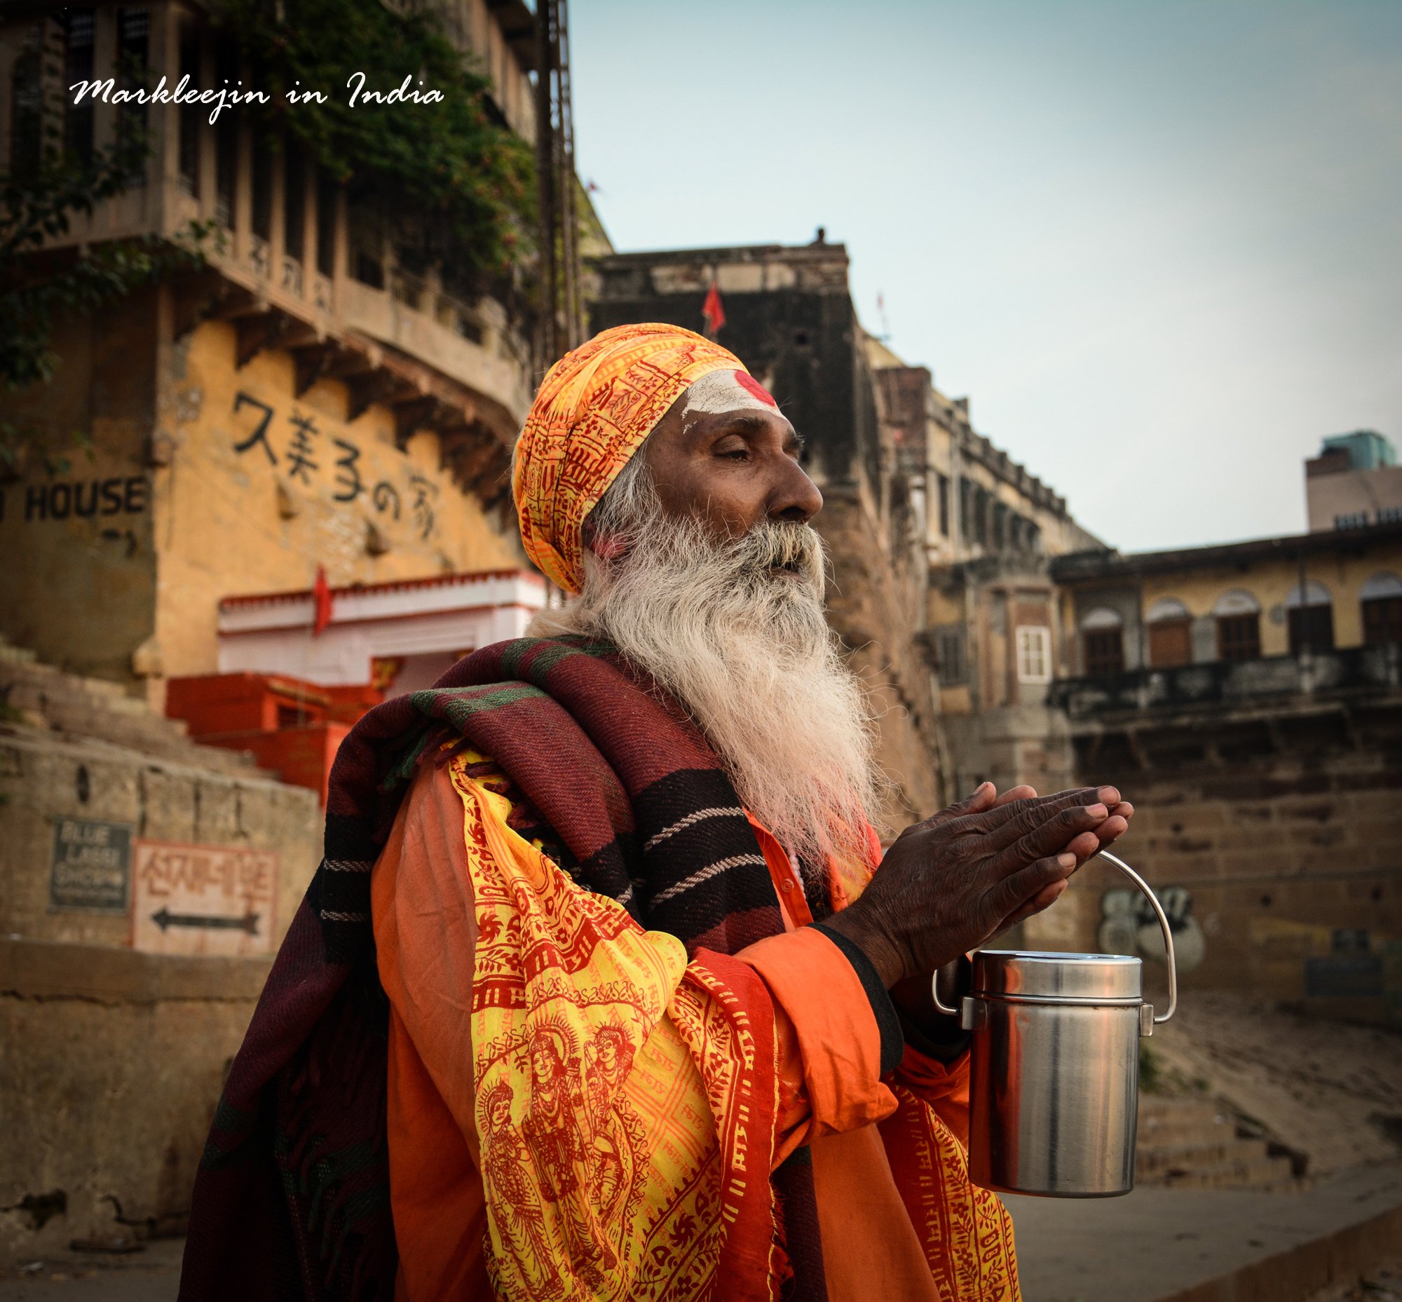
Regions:
[[1064, 678], [1047, 689], [1047, 704], [1066, 710], [1073, 718], [1085, 718], [1389, 689], [1402, 689], [1402, 645], [1396, 643], [1171, 669], [1130, 669], [1108, 678]]

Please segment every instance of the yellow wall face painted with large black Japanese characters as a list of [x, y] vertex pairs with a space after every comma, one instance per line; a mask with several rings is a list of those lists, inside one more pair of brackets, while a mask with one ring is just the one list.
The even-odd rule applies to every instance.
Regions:
[[[224, 596], [524, 565], [515, 525], [488, 518], [440, 469], [436, 435], [394, 443], [388, 408], [346, 420], [346, 386], [296, 396], [290, 354], [234, 365], [234, 327], [174, 348], [154, 476], [156, 640], [165, 675], [217, 669]], [[381, 550], [383, 549], [383, 550]]]

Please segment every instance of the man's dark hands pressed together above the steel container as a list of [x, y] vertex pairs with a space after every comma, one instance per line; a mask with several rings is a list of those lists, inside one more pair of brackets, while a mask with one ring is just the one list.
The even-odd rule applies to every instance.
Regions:
[[[967, 800], [901, 832], [861, 898], [829, 919], [887, 988], [928, 974], [1047, 908], [1067, 878], [1123, 835], [1134, 810], [1115, 787]], [[1012, 798], [1016, 797], [1016, 798]]]

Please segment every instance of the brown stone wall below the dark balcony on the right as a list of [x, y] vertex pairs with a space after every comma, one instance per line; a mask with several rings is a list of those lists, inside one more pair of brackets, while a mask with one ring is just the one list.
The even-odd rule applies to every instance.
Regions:
[[[1075, 779], [1136, 805], [1119, 850], [1168, 906], [1189, 996], [1241, 989], [1402, 1026], [1402, 702], [1294, 697], [1073, 730]], [[1091, 864], [1029, 937], [1157, 965], [1158, 927], [1124, 887]]]

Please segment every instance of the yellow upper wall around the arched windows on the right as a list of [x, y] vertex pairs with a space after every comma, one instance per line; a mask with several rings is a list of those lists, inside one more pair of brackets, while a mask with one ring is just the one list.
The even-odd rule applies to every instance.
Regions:
[[[1335, 553], [1315, 553], [1307, 558], [1305, 579], [1323, 584], [1333, 599], [1333, 641], [1336, 647], [1363, 644], [1363, 610], [1359, 589], [1374, 574], [1402, 574], [1402, 546], [1368, 547], [1366, 556], [1340, 547]], [[1152, 574], [1144, 578], [1143, 612], [1154, 602], [1171, 596], [1187, 606], [1193, 617], [1211, 615], [1217, 599], [1234, 588], [1249, 592], [1260, 603], [1260, 654], [1290, 654], [1290, 623], [1286, 598], [1300, 582], [1300, 564], [1294, 557], [1280, 561], [1253, 561], [1249, 568], [1235, 565], [1214, 570], [1183, 570], [1178, 574]]]

